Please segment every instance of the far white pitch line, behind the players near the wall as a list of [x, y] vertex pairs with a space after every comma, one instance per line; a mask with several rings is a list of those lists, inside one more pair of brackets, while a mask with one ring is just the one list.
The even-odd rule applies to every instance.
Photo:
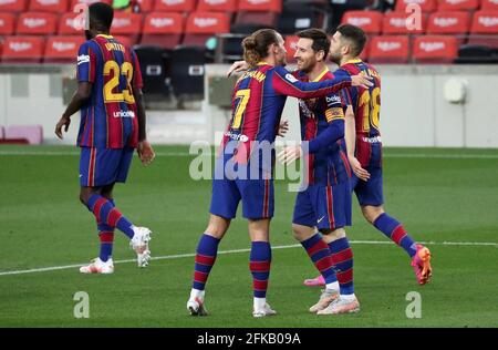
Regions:
[[[215, 153], [210, 154], [214, 155]], [[63, 151], [0, 151], [0, 156], [76, 156], [80, 152]], [[195, 157], [198, 154], [185, 152], [157, 152], [159, 157]], [[433, 154], [433, 153], [394, 153], [383, 154], [386, 158], [434, 158], [434, 159], [498, 159], [498, 154]]]

